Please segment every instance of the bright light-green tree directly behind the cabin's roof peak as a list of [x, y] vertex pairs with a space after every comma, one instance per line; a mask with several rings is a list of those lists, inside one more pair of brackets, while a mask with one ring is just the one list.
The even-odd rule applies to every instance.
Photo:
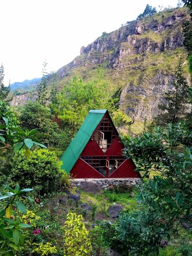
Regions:
[[54, 105], [58, 117], [75, 134], [90, 109], [112, 110], [111, 89], [102, 78], [102, 70], [97, 70], [98, 78], [85, 83], [82, 78], [74, 77], [69, 85], [64, 85]]

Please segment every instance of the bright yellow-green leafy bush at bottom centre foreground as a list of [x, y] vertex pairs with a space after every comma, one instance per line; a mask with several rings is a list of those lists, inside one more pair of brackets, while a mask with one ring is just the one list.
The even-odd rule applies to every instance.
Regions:
[[91, 240], [89, 232], [83, 224], [82, 215], [68, 213], [64, 229], [64, 255], [88, 256], [91, 255]]

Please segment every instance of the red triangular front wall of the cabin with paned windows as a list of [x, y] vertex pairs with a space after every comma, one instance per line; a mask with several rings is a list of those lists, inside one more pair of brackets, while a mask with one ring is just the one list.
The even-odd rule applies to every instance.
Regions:
[[133, 160], [123, 156], [118, 132], [108, 112], [72, 167], [72, 178], [140, 178]]

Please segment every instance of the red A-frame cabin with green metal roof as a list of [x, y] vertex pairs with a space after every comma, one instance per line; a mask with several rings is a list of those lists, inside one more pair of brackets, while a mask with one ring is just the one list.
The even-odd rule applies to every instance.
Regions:
[[91, 110], [61, 156], [61, 169], [72, 178], [140, 178], [123, 147], [107, 109]]

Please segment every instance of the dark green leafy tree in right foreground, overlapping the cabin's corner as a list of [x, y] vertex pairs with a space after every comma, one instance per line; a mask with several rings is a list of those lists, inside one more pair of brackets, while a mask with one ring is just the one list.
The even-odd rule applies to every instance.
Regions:
[[185, 125], [170, 124], [127, 137], [125, 154], [134, 158], [136, 170], [148, 177], [153, 171], [154, 176], [140, 187], [138, 211], [123, 213], [111, 227], [115, 233], [108, 241], [114, 250], [123, 255], [158, 255], [162, 240], [179, 237], [180, 223], [191, 225], [191, 136]]

